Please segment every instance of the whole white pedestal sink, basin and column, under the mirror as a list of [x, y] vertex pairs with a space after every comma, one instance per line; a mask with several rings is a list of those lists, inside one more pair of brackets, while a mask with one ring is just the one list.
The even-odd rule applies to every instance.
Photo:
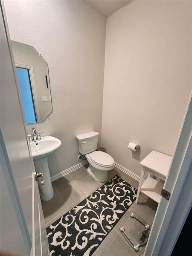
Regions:
[[30, 142], [30, 145], [35, 171], [38, 173], [43, 172], [44, 174], [43, 185], [41, 184], [41, 179], [38, 178], [40, 196], [43, 201], [48, 201], [53, 197], [53, 188], [47, 159], [49, 155], [53, 154], [61, 146], [61, 140], [52, 136], [45, 136], [41, 140]]

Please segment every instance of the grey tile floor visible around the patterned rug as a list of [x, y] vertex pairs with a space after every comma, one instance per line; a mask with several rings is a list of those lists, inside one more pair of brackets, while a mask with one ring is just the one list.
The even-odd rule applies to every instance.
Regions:
[[[111, 170], [108, 174], [108, 180], [116, 174], [138, 189], [138, 181], [119, 170]], [[87, 196], [102, 186], [102, 184], [103, 183], [94, 180], [93, 177], [88, 174], [87, 166], [83, 166], [76, 171], [55, 180], [53, 182], [53, 198], [47, 202], [42, 201], [46, 227], [79, 204], [84, 198], [87, 198]], [[147, 198], [145, 195], [140, 194], [139, 203], [135, 204], [134, 202], [128, 209], [126, 215], [128, 215], [130, 211], [134, 211], [145, 219], [148, 224], [152, 225], [156, 209], [157, 203], [150, 198]], [[124, 216], [122, 218], [124, 218]], [[122, 236], [119, 230], [120, 223], [121, 219], [102, 241], [93, 253], [93, 256], [137, 256], [137, 253], [128, 246]], [[126, 226], [126, 222], [124, 225]]]

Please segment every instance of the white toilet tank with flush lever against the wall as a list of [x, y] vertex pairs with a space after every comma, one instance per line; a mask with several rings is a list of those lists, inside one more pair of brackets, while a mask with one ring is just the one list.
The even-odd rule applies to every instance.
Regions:
[[79, 145], [79, 152], [83, 155], [89, 154], [97, 149], [99, 132], [90, 131], [76, 136]]

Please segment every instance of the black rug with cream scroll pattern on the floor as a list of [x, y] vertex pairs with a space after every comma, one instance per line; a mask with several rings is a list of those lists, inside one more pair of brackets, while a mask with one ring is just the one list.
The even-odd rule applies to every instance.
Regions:
[[90, 256], [135, 201], [118, 175], [47, 228], [51, 256]]

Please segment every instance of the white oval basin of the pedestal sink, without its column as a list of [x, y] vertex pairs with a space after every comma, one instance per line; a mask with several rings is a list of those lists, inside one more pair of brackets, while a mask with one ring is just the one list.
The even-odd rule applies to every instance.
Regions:
[[37, 160], [54, 153], [61, 146], [61, 140], [52, 136], [45, 136], [37, 142], [31, 142], [30, 145], [33, 159]]

